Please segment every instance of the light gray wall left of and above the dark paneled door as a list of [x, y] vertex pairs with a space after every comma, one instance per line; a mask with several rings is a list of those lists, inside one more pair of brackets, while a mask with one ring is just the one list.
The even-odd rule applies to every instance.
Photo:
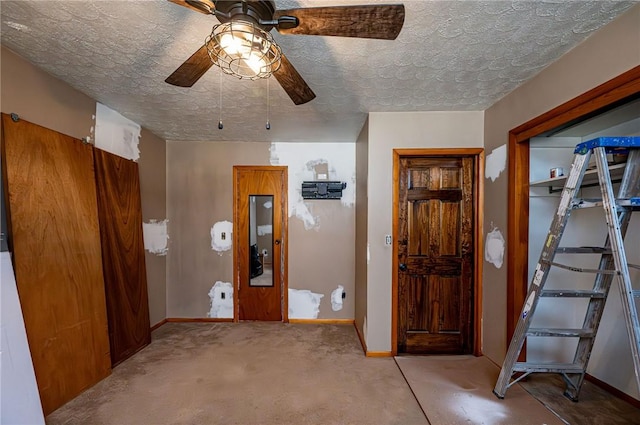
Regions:
[[367, 329], [369, 351], [391, 351], [393, 149], [481, 148], [484, 113], [372, 112], [369, 114]]

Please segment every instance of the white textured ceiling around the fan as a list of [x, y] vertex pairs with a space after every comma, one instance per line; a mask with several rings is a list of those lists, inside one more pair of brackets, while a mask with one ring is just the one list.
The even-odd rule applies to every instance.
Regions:
[[[278, 9], [393, 0], [276, 0]], [[2, 43], [167, 140], [353, 141], [368, 112], [484, 110], [637, 1], [418, 1], [394, 41], [283, 36], [317, 97], [212, 67], [164, 82], [217, 20], [168, 1], [1, 2]], [[222, 108], [220, 108], [222, 99]], [[222, 109], [222, 112], [220, 112]], [[218, 129], [222, 114], [224, 129]]]

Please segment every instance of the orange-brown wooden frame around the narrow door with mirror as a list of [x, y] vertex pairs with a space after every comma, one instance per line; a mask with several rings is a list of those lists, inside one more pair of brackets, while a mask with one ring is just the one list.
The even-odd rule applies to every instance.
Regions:
[[[288, 189], [288, 167], [286, 165], [234, 165], [233, 166], [233, 223], [239, 223], [239, 212], [237, 205], [238, 193], [238, 172], [239, 171], [283, 171], [284, 181], [282, 189], [284, 192], [282, 200], [282, 254], [281, 254], [281, 308], [282, 322], [289, 323], [289, 189]], [[238, 259], [238, 249], [240, 232], [233, 232], [233, 321], [240, 321], [240, 261]]]

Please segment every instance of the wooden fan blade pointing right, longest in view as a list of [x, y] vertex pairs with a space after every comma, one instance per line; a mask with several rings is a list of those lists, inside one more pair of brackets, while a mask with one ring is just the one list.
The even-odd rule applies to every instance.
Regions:
[[404, 23], [404, 5], [333, 6], [277, 10], [274, 19], [278, 19], [280, 16], [295, 16], [300, 21], [295, 28], [278, 28], [278, 32], [282, 34], [395, 40]]

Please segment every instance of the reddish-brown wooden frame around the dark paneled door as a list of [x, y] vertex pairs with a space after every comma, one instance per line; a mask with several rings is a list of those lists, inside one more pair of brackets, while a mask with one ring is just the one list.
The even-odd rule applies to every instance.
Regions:
[[398, 354], [398, 209], [400, 203], [400, 158], [440, 156], [474, 158], [473, 174], [473, 354], [482, 355], [482, 267], [483, 267], [483, 222], [484, 222], [484, 148], [451, 149], [394, 149], [393, 150], [393, 212], [392, 212], [392, 259], [391, 259], [391, 354]]

